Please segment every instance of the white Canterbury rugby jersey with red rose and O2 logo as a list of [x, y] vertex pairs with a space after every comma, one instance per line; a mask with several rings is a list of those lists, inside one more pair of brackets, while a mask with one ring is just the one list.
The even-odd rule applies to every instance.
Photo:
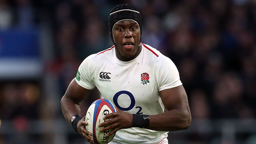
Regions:
[[[115, 47], [88, 56], [78, 68], [76, 82], [99, 90], [130, 114], [156, 115], [164, 112], [159, 91], [182, 85], [175, 64], [155, 48], [142, 44], [140, 54], [128, 62], [118, 60]], [[157, 144], [168, 132], [128, 128], [116, 132], [112, 144]]]

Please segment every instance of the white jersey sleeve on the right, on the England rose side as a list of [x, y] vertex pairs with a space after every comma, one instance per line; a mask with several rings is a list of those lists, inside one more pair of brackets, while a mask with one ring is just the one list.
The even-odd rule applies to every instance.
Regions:
[[177, 67], [170, 58], [165, 56], [159, 66], [158, 78], [159, 91], [182, 85]]

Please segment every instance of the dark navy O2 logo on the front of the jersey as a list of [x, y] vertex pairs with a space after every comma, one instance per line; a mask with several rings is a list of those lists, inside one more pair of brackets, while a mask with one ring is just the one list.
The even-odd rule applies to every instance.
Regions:
[[[131, 100], [131, 104], [130, 106], [128, 106], [127, 108], [123, 108], [121, 107], [118, 102], [117, 102], [117, 99], [118, 97], [121, 95], [121, 94], [127, 94], [129, 97], [130, 97], [130, 100]], [[128, 110], [131, 110], [132, 108], [134, 108], [135, 106], [135, 98], [134, 96], [132, 95], [132, 93], [126, 91], [126, 90], [122, 90], [120, 92], [117, 92], [115, 95], [114, 95], [114, 98], [113, 98], [113, 101], [114, 101], [114, 104], [116, 105], [116, 107], [118, 107], [120, 110], [123, 110], [123, 111], [128, 111]], [[135, 108], [138, 108], [138, 112], [136, 114], [143, 114], [143, 112], [141, 112], [142, 108], [140, 106], [136, 106]]]

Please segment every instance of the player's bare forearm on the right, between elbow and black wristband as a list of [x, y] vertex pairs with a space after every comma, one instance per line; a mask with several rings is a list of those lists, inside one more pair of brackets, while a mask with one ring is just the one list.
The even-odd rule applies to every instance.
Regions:
[[157, 131], [184, 130], [190, 126], [190, 122], [190, 111], [176, 108], [162, 114], [150, 115], [148, 129]]

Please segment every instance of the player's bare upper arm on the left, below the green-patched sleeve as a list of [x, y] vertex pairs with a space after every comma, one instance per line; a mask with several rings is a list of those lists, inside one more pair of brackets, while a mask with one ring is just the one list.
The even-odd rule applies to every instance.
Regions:
[[76, 82], [75, 79], [73, 79], [70, 82], [64, 96], [67, 96], [68, 98], [70, 98], [71, 100], [73, 100], [74, 102], [76, 102], [78, 104], [82, 100], [84, 100], [90, 94], [90, 92], [91, 92], [91, 90], [83, 88]]

